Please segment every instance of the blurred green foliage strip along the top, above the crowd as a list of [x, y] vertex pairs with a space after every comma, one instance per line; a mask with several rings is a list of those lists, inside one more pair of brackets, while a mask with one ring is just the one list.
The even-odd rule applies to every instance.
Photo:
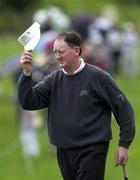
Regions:
[[[113, 5], [118, 10], [119, 24], [133, 20], [139, 26], [140, 0], [1, 0], [0, 1], [0, 33], [21, 32], [32, 23], [34, 12], [39, 8], [58, 6], [73, 16], [77, 13], [89, 12], [99, 15], [104, 6]], [[12, 23], [11, 23], [12, 22]]]

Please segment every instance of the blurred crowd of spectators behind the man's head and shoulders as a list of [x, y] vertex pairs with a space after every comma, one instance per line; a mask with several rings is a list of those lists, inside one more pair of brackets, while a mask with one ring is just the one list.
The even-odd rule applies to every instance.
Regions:
[[33, 20], [41, 24], [42, 36], [35, 51], [36, 63], [43, 64], [43, 67], [44, 64], [47, 67], [55, 64], [52, 46], [57, 33], [75, 30], [82, 37], [85, 62], [113, 76], [123, 74], [129, 77], [137, 74], [139, 37], [134, 22], [125, 22], [123, 27], [119, 27], [114, 18], [105, 13], [94, 16], [86, 12], [69, 17], [56, 7], [37, 11]]

